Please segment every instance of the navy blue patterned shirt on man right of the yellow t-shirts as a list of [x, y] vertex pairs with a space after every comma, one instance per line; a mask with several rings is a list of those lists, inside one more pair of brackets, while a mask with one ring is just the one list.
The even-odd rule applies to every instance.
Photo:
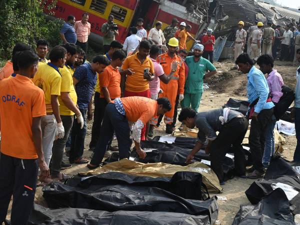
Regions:
[[75, 85], [77, 104], [80, 109], [87, 109], [97, 81], [96, 72], [92, 71], [89, 63], [84, 63], [76, 68], [73, 77], [79, 81]]

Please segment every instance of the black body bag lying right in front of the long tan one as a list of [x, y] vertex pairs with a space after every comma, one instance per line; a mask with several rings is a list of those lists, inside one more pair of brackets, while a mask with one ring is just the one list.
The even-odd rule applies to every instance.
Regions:
[[[93, 189], [106, 185], [127, 184], [135, 186], [159, 187], [183, 198], [206, 200], [209, 198], [202, 175], [198, 172], [179, 171], [172, 177], [135, 176], [121, 172], [106, 172], [89, 177], [69, 178], [66, 185]], [[196, 190], [196, 191], [195, 191]]]

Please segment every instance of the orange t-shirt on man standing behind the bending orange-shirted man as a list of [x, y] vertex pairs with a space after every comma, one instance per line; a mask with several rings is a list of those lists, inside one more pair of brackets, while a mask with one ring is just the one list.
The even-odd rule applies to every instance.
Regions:
[[110, 98], [114, 99], [121, 96], [121, 74], [118, 68], [113, 68], [111, 65], [106, 66], [103, 72], [99, 75], [100, 97], [104, 97], [102, 87], [107, 87]]

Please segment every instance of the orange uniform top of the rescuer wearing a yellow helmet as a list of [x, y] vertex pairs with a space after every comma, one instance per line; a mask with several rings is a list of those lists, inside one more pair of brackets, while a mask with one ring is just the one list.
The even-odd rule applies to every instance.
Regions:
[[178, 91], [180, 94], [183, 94], [184, 92], [184, 82], [185, 82], [185, 67], [182, 58], [180, 58], [178, 55], [174, 55], [174, 57], [170, 57], [168, 53], [160, 54], [156, 61], [161, 64], [164, 74], [170, 74], [171, 73], [171, 63], [172, 61], [177, 61], [177, 69], [173, 75], [173, 78], [166, 84], [163, 82], [160, 82], [160, 88], [167, 92], [169, 88], [171, 88], [170, 83], [176, 82], [178, 83]]

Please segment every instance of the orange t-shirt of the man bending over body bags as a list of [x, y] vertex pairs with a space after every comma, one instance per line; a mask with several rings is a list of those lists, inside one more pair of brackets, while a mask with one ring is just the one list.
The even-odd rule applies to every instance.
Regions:
[[122, 97], [121, 102], [125, 109], [126, 118], [130, 122], [136, 122], [139, 119], [146, 124], [157, 114], [157, 101], [151, 98], [140, 96]]

